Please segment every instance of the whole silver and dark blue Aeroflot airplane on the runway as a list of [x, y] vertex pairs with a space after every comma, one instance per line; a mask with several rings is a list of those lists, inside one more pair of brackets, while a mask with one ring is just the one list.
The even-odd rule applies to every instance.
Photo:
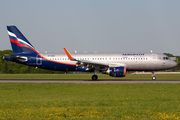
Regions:
[[112, 77], [125, 77], [126, 71], [167, 70], [177, 66], [168, 56], [154, 52], [120, 53], [39, 53], [16, 26], [7, 26], [13, 54], [4, 55], [5, 60], [57, 71], [94, 72], [92, 80], [97, 80], [97, 73], [102, 72]]

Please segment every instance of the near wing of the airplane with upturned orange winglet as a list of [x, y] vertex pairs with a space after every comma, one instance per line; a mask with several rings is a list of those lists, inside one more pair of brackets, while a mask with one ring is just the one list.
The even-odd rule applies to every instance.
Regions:
[[88, 60], [77, 60], [71, 56], [71, 54], [66, 50], [66, 48], [64, 48], [64, 51], [71, 61], [77, 61], [77, 63], [76, 63], [77, 65], [83, 65], [83, 66], [86, 66], [88, 68], [99, 67], [101, 69], [109, 67], [108, 64], [104, 64], [104, 63], [92, 62], [92, 61], [88, 61]]

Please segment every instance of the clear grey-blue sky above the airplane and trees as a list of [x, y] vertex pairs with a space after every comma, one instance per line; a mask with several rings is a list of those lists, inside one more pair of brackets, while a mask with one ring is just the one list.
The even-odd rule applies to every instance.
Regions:
[[180, 0], [2, 0], [0, 50], [15, 25], [39, 52], [180, 56]]

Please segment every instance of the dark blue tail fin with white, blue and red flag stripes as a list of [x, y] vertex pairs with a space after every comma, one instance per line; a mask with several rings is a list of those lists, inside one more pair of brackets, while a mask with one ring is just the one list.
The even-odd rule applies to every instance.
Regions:
[[33, 45], [16, 26], [7, 26], [13, 54], [38, 54]]

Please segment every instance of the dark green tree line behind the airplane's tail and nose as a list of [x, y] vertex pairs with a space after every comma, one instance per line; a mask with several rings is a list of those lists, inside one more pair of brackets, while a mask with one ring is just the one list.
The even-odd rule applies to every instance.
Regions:
[[[46, 70], [35, 68], [31, 66], [26, 66], [22, 64], [18, 64], [15, 62], [7, 61], [3, 59], [5, 54], [13, 54], [12, 50], [3, 50], [0, 51], [0, 73], [2, 74], [64, 74], [64, 71], [54, 71], [54, 70]], [[168, 71], [180, 71], [180, 56], [174, 56], [170, 53], [164, 53], [169, 57], [177, 57], [178, 58], [178, 66], [174, 69]]]

